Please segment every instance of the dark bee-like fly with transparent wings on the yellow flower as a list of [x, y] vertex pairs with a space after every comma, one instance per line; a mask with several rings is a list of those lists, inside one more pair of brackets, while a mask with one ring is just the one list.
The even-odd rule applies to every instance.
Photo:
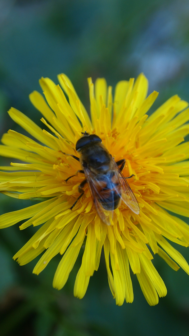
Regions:
[[[134, 196], [127, 178], [122, 174], [125, 166], [125, 159], [115, 162], [111, 154], [102, 144], [102, 139], [96, 134], [82, 132], [82, 136], [76, 142], [76, 151], [80, 158], [71, 155], [80, 161], [82, 170], [78, 172], [85, 175], [85, 179], [78, 187], [80, 196], [74, 202], [71, 210], [77, 201], [83, 196], [83, 187], [88, 183], [93, 202], [99, 217], [107, 225], [111, 224], [113, 212], [123, 201], [134, 213], [139, 214], [140, 208]], [[64, 153], [65, 154], [65, 153]], [[66, 179], [66, 182], [75, 175]]]

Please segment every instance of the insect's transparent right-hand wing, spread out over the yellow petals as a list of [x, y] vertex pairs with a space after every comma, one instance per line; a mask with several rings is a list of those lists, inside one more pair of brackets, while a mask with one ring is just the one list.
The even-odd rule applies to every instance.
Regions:
[[[113, 158], [112, 160], [114, 161]], [[119, 179], [120, 184], [121, 184], [121, 189], [122, 189], [121, 193], [120, 193], [120, 190], [118, 189], [118, 186], [115, 186], [115, 188], [117, 189], [117, 192], [120, 193], [119, 194], [120, 198], [129, 207], [129, 209], [131, 209], [134, 213], [138, 215], [140, 212], [140, 207], [139, 207], [136, 197], [134, 196], [126, 178], [123, 176], [122, 172], [120, 171], [115, 161], [113, 163], [113, 167], [115, 170], [116, 177]]]

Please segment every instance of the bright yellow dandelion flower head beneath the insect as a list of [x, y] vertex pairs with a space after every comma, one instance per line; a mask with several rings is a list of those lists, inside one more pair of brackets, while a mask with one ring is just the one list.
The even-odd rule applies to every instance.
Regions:
[[[105, 79], [97, 79], [93, 85], [89, 78], [90, 119], [70, 80], [63, 74], [58, 79], [63, 90], [49, 78], [40, 80], [47, 102], [37, 91], [30, 94], [49, 131], [14, 108], [8, 112], [37, 141], [12, 130], [3, 135], [0, 154], [23, 163], [0, 167], [7, 171], [0, 172], [1, 192], [38, 202], [1, 215], [0, 227], [24, 219], [20, 229], [42, 224], [14, 259], [24, 265], [45, 251], [34, 267], [33, 272], [39, 274], [56, 254], [62, 254], [53, 280], [55, 288], [65, 285], [84, 243], [74, 285], [76, 297], [85, 295], [104, 248], [108, 282], [116, 304], [122, 305], [124, 299], [133, 301], [130, 265], [147, 302], [155, 305], [158, 295], [165, 296], [167, 289], [153, 266], [152, 253], [159, 254], [173, 269], [178, 270], [180, 265], [189, 274], [186, 260], [170, 244], [172, 241], [187, 247], [189, 226], [167, 212], [189, 217], [189, 142], [180, 144], [189, 133], [189, 125], [185, 124], [189, 109], [184, 110], [188, 103], [175, 95], [148, 117], [146, 113], [157, 92], [146, 98], [148, 82], [143, 74], [135, 83], [134, 79], [119, 82], [114, 99]], [[79, 172], [83, 166], [75, 146], [84, 132], [102, 139], [103, 148], [115, 160], [111, 162], [125, 159], [122, 173], [125, 177], [134, 175], [127, 181], [133, 202], [140, 209], [133, 209], [128, 198], [114, 211], [106, 210], [111, 216], [103, 220], [101, 212], [106, 211], [94, 204], [98, 193], [91, 196], [90, 177], [86, 170], [85, 175]], [[82, 183], [84, 180], [86, 183]]]

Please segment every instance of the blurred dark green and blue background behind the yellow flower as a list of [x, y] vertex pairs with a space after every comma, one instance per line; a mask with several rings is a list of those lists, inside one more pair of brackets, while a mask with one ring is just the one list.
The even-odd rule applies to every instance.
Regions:
[[[154, 106], [173, 94], [189, 100], [188, 0], [0, 0], [0, 133], [19, 127], [8, 117], [11, 107], [38, 125], [41, 116], [28, 94], [40, 90], [38, 79], [64, 72], [89, 109], [86, 78], [105, 77], [115, 86], [144, 72], [149, 93], [160, 91]], [[154, 108], [153, 108], [154, 109]], [[9, 165], [1, 159], [0, 165]], [[29, 201], [1, 195], [1, 213], [29, 206]], [[187, 219], [185, 219], [187, 220]], [[173, 271], [156, 255], [153, 261], [168, 294], [150, 307], [132, 276], [134, 302], [118, 307], [112, 298], [102, 257], [85, 297], [73, 297], [80, 254], [66, 286], [52, 288], [58, 255], [39, 275], [36, 261], [19, 266], [12, 256], [33, 235], [19, 225], [0, 232], [1, 336], [189, 335], [189, 277]], [[189, 261], [189, 249], [177, 247]]]

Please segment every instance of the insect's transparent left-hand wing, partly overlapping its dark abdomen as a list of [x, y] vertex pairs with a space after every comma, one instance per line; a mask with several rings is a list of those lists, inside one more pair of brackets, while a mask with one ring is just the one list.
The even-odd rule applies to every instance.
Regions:
[[[106, 181], [97, 180], [96, 175], [94, 175], [88, 168], [83, 167], [83, 170], [99, 217], [105, 224], [111, 225], [114, 215], [113, 192], [106, 189]], [[106, 205], [107, 203], [109, 204], [110, 210], [107, 210], [102, 206], [102, 204]]]

